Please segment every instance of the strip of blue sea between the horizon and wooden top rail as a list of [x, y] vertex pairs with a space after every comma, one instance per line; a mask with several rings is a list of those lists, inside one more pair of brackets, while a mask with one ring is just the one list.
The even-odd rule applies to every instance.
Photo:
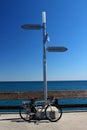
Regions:
[[[86, 90], [87, 81], [48, 81], [48, 90]], [[0, 91], [43, 90], [42, 81], [0, 82]]]

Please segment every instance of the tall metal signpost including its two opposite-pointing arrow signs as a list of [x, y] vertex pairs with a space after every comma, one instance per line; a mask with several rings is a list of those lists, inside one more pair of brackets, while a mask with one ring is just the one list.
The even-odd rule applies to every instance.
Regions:
[[21, 26], [27, 30], [43, 30], [43, 81], [44, 81], [44, 100], [47, 102], [47, 78], [46, 78], [46, 51], [48, 52], [65, 52], [65, 47], [48, 47], [46, 48], [46, 42], [48, 40], [48, 34], [46, 33], [46, 12], [42, 12], [42, 25], [40, 24], [24, 24]]

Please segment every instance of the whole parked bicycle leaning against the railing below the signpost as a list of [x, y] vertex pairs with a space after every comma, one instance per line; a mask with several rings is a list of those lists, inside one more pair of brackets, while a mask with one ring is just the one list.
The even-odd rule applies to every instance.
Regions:
[[62, 109], [59, 107], [57, 99], [50, 98], [45, 102], [32, 98], [30, 102], [22, 103], [19, 114], [25, 121], [48, 119], [56, 122], [62, 117]]

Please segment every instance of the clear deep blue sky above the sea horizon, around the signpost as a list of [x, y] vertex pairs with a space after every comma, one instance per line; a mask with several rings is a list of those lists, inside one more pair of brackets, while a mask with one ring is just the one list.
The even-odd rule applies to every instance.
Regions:
[[0, 0], [0, 81], [43, 80], [42, 30], [22, 24], [42, 24], [47, 13], [48, 46], [67, 52], [47, 52], [47, 80], [87, 80], [87, 0]]

